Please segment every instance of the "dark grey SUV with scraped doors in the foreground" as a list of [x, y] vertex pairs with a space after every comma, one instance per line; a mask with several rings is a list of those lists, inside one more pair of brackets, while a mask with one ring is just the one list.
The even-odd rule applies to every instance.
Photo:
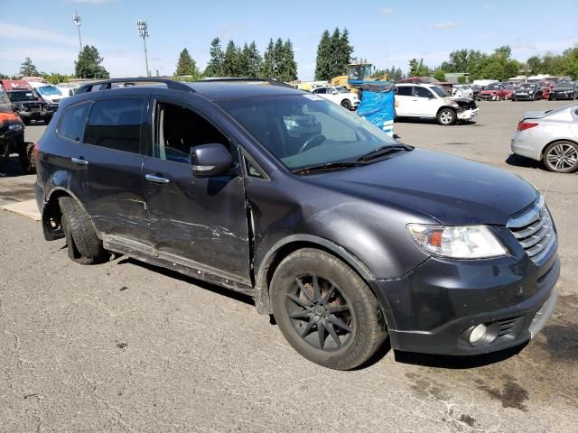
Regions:
[[[113, 251], [247, 293], [340, 370], [387, 335], [474, 355], [545, 326], [557, 235], [526, 180], [276, 81], [143, 81], [166, 88], [79, 88], [37, 143], [44, 235], [72, 260]], [[289, 134], [295, 116], [317, 126]]]

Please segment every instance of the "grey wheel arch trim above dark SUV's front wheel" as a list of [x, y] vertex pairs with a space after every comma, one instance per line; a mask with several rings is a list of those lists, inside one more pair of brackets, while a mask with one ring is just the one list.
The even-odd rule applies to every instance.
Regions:
[[[303, 248], [316, 248], [331, 253], [351, 269], [359, 274], [364, 281], [374, 280], [375, 277], [368, 267], [357, 256], [348, 250], [335, 244], [328, 239], [315, 235], [289, 235], [274, 244], [258, 266], [255, 281], [255, 305], [260, 314], [271, 314], [271, 301], [269, 298], [270, 282], [279, 263], [297, 250]], [[369, 285], [369, 287], [371, 287]]]

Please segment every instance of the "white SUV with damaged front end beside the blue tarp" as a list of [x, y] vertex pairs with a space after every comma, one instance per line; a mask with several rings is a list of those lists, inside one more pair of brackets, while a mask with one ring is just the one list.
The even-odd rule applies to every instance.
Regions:
[[449, 125], [476, 115], [478, 106], [472, 99], [452, 97], [434, 84], [396, 84], [396, 117], [425, 117]]

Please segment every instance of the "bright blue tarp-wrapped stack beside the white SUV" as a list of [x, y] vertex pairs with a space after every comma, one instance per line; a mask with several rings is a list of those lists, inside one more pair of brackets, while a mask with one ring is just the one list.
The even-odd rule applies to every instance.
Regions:
[[394, 91], [390, 83], [371, 83], [361, 87], [358, 115], [375, 124], [386, 134], [394, 134]]

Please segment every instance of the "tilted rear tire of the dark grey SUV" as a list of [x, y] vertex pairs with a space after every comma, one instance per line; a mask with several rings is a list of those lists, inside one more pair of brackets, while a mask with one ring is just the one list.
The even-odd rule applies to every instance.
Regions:
[[62, 211], [62, 231], [69, 247], [70, 259], [80, 264], [106, 262], [107, 252], [102, 247], [87, 213], [74, 198], [62, 197], [59, 205]]

